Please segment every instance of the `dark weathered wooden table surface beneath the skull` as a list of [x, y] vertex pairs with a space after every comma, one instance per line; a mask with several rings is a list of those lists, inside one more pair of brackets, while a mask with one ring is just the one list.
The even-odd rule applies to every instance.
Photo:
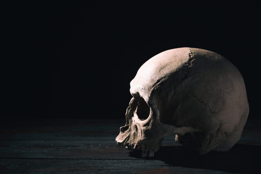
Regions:
[[200, 155], [164, 138], [154, 157], [115, 142], [125, 120], [2, 121], [0, 173], [261, 173], [261, 120], [248, 120], [227, 152]]

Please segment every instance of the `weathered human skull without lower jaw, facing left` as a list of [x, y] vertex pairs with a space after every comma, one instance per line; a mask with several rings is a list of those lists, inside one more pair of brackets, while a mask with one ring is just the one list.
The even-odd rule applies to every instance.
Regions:
[[151, 157], [164, 136], [200, 154], [228, 151], [242, 134], [249, 113], [243, 78], [226, 58], [198, 48], [164, 51], [131, 81], [126, 125], [118, 145]]

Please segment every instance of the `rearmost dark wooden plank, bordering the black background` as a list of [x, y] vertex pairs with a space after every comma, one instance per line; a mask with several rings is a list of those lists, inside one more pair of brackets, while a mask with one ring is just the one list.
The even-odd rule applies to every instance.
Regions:
[[[2, 122], [3, 124], [3, 122]], [[59, 140], [114, 140], [119, 127], [125, 124], [123, 119], [41, 119], [6, 122], [0, 127], [0, 139], [59, 139]], [[261, 140], [261, 119], [248, 120], [240, 140]], [[175, 135], [165, 137], [175, 139]]]

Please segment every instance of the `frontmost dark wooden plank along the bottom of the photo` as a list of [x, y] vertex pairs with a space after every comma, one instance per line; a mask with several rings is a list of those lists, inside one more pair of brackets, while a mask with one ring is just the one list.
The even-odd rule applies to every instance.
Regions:
[[[177, 159], [178, 160], [178, 159]], [[174, 158], [174, 161], [177, 161]], [[160, 160], [68, 160], [68, 159], [2, 159], [0, 170], [4, 173], [194, 173], [228, 174], [255, 173], [253, 168], [244, 168], [238, 163], [233, 168], [229, 164], [209, 166], [202, 163], [202, 168], [191, 168], [187, 162], [183, 166], [171, 166]], [[43, 165], [44, 164], [44, 165]], [[179, 163], [180, 164], [180, 163]]]

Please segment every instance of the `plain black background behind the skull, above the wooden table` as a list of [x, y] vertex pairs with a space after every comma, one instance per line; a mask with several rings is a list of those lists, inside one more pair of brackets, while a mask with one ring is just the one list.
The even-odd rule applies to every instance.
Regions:
[[260, 6], [252, 1], [3, 4], [6, 118], [123, 118], [130, 81], [154, 55], [211, 50], [241, 72], [260, 109]]

